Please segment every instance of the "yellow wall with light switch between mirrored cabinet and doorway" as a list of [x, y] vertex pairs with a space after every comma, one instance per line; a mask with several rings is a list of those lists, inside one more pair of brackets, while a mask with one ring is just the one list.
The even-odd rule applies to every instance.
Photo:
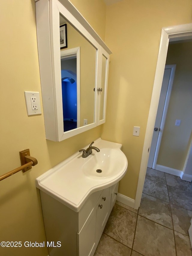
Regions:
[[[162, 27], [192, 22], [190, 0], [123, 0], [107, 6], [110, 56], [102, 138], [123, 144], [128, 171], [119, 192], [135, 199]], [[140, 126], [140, 136], [133, 127]]]

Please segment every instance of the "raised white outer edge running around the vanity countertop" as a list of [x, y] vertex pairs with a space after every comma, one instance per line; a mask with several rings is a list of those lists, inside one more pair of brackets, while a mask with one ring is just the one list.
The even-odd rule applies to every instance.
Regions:
[[[110, 141], [106, 141], [106, 140], [101, 140], [101, 138], [98, 138], [97, 140], [95, 140], [94, 146], [98, 143], [102, 143], [104, 142], [105, 144], [111, 144], [115, 145], [116, 147], [113, 147], [114, 149], [119, 149], [121, 151], [122, 148], [122, 144], [119, 143], [114, 143], [114, 142], [110, 142]], [[88, 145], [89, 146], [89, 145]], [[88, 147], [85, 146], [84, 148]], [[100, 146], [101, 148], [106, 148], [106, 145], [104, 145], [104, 147]], [[122, 151], [121, 151], [122, 152]], [[124, 154], [122, 152], [122, 154]], [[73, 158], [77, 157], [79, 155], [79, 152], [76, 152], [75, 154], [73, 154], [72, 156], [70, 156], [69, 158], [67, 158], [66, 160], [62, 161], [61, 163], [59, 163], [58, 165], [56, 165], [55, 167], [53, 167], [52, 169], [46, 171], [45, 173], [43, 173], [41, 176], [39, 176], [36, 179], [36, 187], [39, 188], [41, 191], [43, 191], [44, 193], [48, 194], [49, 196], [55, 198], [57, 201], [59, 201], [60, 203], [64, 204], [65, 206], [69, 207], [70, 209], [72, 209], [75, 212], [79, 212], [80, 209], [82, 208], [82, 206], [84, 205], [85, 201], [88, 199], [88, 197], [93, 194], [96, 191], [100, 191], [103, 190], [105, 188], [111, 187], [114, 184], [116, 184], [117, 182], [119, 182], [123, 176], [125, 176], [125, 173], [127, 172], [127, 168], [128, 168], [128, 160], [125, 156], [126, 159], [126, 166], [124, 168], [124, 170], [121, 172], [121, 174], [119, 176], [115, 176], [114, 179], [110, 180], [106, 180], [106, 182], [104, 182], [101, 185], [96, 185], [96, 186], [92, 186], [90, 187], [87, 192], [84, 194], [84, 196], [82, 197], [82, 200], [79, 201], [78, 204], [75, 204], [73, 202], [71, 202], [70, 200], [67, 200], [67, 198], [61, 196], [60, 194], [57, 194], [55, 191], [52, 191], [51, 189], [47, 188], [46, 186], [44, 186], [43, 184], [41, 184], [41, 180], [45, 179], [47, 176], [49, 176], [50, 173], [55, 172], [56, 170], [58, 170], [60, 167], [62, 167], [63, 165], [65, 165], [66, 163], [68, 163], [69, 161], [71, 161]], [[80, 156], [82, 155], [82, 153], [80, 153]], [[124, 154], [125, 155], [125, 154]]]

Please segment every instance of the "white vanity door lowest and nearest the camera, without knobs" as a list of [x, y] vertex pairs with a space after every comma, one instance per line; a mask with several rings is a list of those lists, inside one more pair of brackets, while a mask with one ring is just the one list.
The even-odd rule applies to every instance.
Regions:
[[77, 255], [79, 256], [92, 255], [91, 252], [95, 249], [96, 213], [95, 209], [85, 222], [80, 233], [77, 233], [77, 245], [79, 245]]

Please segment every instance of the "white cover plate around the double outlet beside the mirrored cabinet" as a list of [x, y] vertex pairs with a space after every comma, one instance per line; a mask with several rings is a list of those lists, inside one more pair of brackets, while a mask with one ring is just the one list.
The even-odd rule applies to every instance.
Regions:
[[[24, 92], [25, 93], [25, 101], [26, 101], [26, 107], [27, 107], [27, 115], [39, 115], [41, 114], [41, 104], [40, 104], [40, 98], [39, 98], [39, 92]], [[31, 97], [36, 98], [36, 105], [37, 109], [32, 110], [32, 103], [31, 103]]]

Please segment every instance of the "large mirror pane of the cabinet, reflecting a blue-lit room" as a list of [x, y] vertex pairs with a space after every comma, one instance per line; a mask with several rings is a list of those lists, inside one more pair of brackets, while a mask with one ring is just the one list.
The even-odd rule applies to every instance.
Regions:
[[66, 132], [95, 122], [97, 49], [61, 14], [59, 23], [60, 28], [67, 28], [67, 47], [62, 47], [65, 40], [60, 33], [63, 123]]

